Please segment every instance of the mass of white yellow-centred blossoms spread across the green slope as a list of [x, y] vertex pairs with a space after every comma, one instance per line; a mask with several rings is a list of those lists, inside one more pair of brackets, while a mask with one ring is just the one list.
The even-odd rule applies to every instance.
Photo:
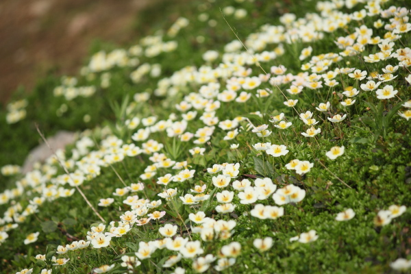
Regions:
[[[134, 232], [147, 230], [156, 235], [156, 240], [141, 240], [135, 244], [134, 254], [121, 256], [120, 266], [129, 273], [142, 271], [139, 269], [141, 264], [153, 263], [151, 259], [156, 260], [161, 254], [165, 256], [158, 249], [167, 250], [166, 257], [161, 258], [164, 263], [158, 268], [173, 267], [174, 273], [185, 273], [185, 269], [175, 266], [182, 259], [188, 260], [192, 270], [197, 273], [212, 267], [215, 271], [223, 271], [236, 264], [242, 252], [242, 244], [236, 241], [238, 222], [251, 215], [253, 218], [250, 217], [250, 221], [279, 223], [286, 213], [284, 211], [288, 210], [286, 207], [300, 210], [301, 201], [306, 195], [311, 195], [307, 193], [310, 188], [306, 188], [306, 184], [301, 181], [302, 175], [313, 169], [314, 161], [323, 165], [313, 155], [299, 154], [298, 146], [284, 141], [282, 134], [294, 132], [297, 138], [301, 138], [298, 145], [319, 150], [313, 144], [319, 138], [328, 138], [326, 132], [330, 127], [337, 129], [347, 123], [347, 110], [360, 101], [355, 98], [374, 96], [375, 93], [377, 99], [394, 100], [401, 95], [395, 89], [397, 77], [400, 69], [410, 66], [411, 50], [400, 45], [397, 40], [411, 30], [409, 11], [394, 6], [383, 10], [382, 6], [385, 5], [380, 5], [382, 1], [366, 1], [364, 9], [352, 14], [340, 10], [343, 7], [349, 10], [360, 2], [364, 1], [320, 1], [317, 3], [320, 14], [306, 14], [303, 18], [297, 18], [295, 14], [283, 14], [279, 18], [282, 25], [264, 25], [247, 37], [245, 46], [248, 52], [242, 50], [241, 42], [229, 42], [224, 52], [206, 51], [203, 54], [205, 64], [185, 66], [169, 77], [158, 80], [152, 92], [137, 92], [134, 101], [126, 106], [124, 120], [119, 121], [116, 128], [119, 132], [124, 131], [127, 137], [119, 138], [114, 135], [114, 131], [101, 129], [99, 132], [96, 130], [100, 138], [97, 142], [88, 136], [90, 133], [84, 133], [75, 142], [71, 153], [56, 151], [45, 164], [36, 164], [33, 171], [23, 175], [14, 188], [0, 193], [0, 205], [7, 205], [0, 219], [0, 244], [10, 239], [8, 232], [27, 222], [28, 216], [38, 212], [43, 205], [50, 206], [57, 199], [71, 197], [75, 192], [82, 193], [84, 188], [95, 188], [101, 174], [110, 169], [115, 170], [120, 164], [127, 171], [131, 162], [133, 173], [129, 175], [127, 171], [126, 181], [116, 172], [119, 179], [110, 186], [110, 197], [91, 201], [92, 205], [98, 205], [97, 210], [93, 208], [96, 212], [104, 208], [111, 210], [110, 216], [113, 216], [113, 212], [118, 212], [118, 216], [92, 225], [84, 235], [84, 240], [59, 245], [56, 253], [60, 258], [53, 257], [53, 265], [66, 264], [69, 261], [68, 252], [107, 248], [120, 242], [116, 238], [121, 237], [129, 242]], [[235, 18], [247, 16], [247, 10], [231, 6], [224, 8], [223, 13], [227, 16], [233, 14]], [[363, 19], [367, 16], [376, 18], [373, 26], [364, 25]], [[201, 21], [208, 20], [206, 16], [201, 17], [205, 18]], [[208, 21], [210, 26], [215, 25], [213, 22]], [[178, 18], [166, 35], [173, 38], [188, 24], [188, 19]], [[374, 34], [374, 29], [381, 27], [388, 31], [383, 38]], [[347, 36], [336, 37], [336, 53], [313, 55], [315, 49], [308, 44], [332, 36], [338, 29], [344, 29]], [[304, 43], [301, 53], [297, 53], [299, 60], [305, 62], [301, 65], [301, 71], [293, 71], [277, 60], [286, 54], [289, 45], [295, 45], [296, 42]], [[128, 51], [116, 49], [110, 53], [96, 53], [82, 73], [90, 79], [100, 73], [101, 88], [108, 88], [110, 69], [131, 67], [132, 82], [138, 84], [145, 75], [161, 75], [161, 64], [140, 64], [140, 59], [154, 58], [176, 48], [177, 42], [165, 41], [162, 34], [147, 36]], [[343, 60], [351, 56], [361, 57], [362, 52], [375, 49], [377, 52], [363, 59], [369, 63], [384, 62], [386, 66], [382, 71], [343, 67]], [[269, 66], [268, 73], [260, 74], [258, 69], [251, 69], [260, 62]], [[408, 76], [406, 81], [411, 82], [410, 79]], [[77, 79], [64, 77], [62, 85], [55, 88], [54, 93], [72, 100], [77, 96], [91, 96], [97, 90], [96, 86], [76, 85]], [[282, 95], [286, 100], [284, 105], [288, 108], [279, 101], [282, 108], [296, 112], [297, 118], [286, 119], [284, 113], [272, 109], [263, 111], [257, 104], [247, 103], [251, 98], [261, 105], [270, 103], [271, 99], [280, 96], [278, 90], [286, 90]], [[304, 101], [301, 97], [317, 99], [320, 95], [326, 95], [321, 97], [324, 103], [315, 101], [309, 105], [310, 109], [299, 108], [303, 105], [301, 101]], [[165, 97], [172, 103], [162, 105], [164, 108], [161, 112], [140, 108], [155, 97]], [[16, 102], [10, 111], [21, 111], [25, 105], [27, 103]], [[411, 103], [404, 101], [402, 106], [410, 108]], [[241, 110], [236, 111], [236, 108]], [[400, 115], [408, 120], [411, 112], [407, 110], [400, 112]], [[253, 125], [250, 119], [260, 124]], [[10, 121], [15, 123], [18, 119]], [[295, 132], [297, 127], [303, 132]], [[241, 142], [241, 149], [235, 151], [239, 144], [229, 144], [232, 140]], [[251, 140], [251, 144], [247, 140]], [[214, 145], [218, 149], [214, 149]], [[227, 147], [230, 149], [225, 149]], [[219, 149], [221, 151], [217, 151]], [[246, 172], [252, 167], [247, 162], [241, 162], [241, 165], [236, 160], [223, 164], [213, 162], [216, 153], [229, 153], [229, 158], [235, 159], [235, 153], [240, 158], [240, 153], [244, 152], [255, 155], [269, 169], [275, 167], [287, 176], [297, 174], [295, 177], [298, 182], [280, 185], [276, 180], [273, 182], [274, 178], [248, 174]], [[321, 156], [334, 161], [343, 153], [345, 147], [341, 145], [327, 152], [321, 151]], [[297, 159], [300, 156], [306, 160]], [[60, 164], [64, 172], [59, 168]], [[211, 167], [203, 169], [207, 164]], [[3, 175], [12, 175], [16, 170], [13, 166], [4, 166], [1, 172]], [[27, 200], [25, 203], [19, 202], [23, 195]], [[114, 208], [119, 208], [119, 211]], [[236, 210], [243, 214], [238, 220], [234, 220], [233, 213]], [[405, 211], [406, 206], [390, 206], [388, 210], [377, 213], [374, 223], [377, 226], [388, 225]], [[186, 218], [183, 218], [184, 214]], [[349, 221], [354, 216], [354, 210], [348, 208], [333, 216], [332, 220]], [[26, 236], [24, 244], [36, 242], [39, 237], [42, 237], [39, 232], [32, 232]], [[316, 230], [311, 229], [290, 238], [290, 241], [309, 243], [318, 238]], [[214, 240], [225, 242], [216, 250], [214, 245], [208, 245]], [[273, 238], [254, 238], [253, 247], [260, 252], [268, 251], [273, 247]], [[43, 260], [41, 254], [38, 258]], [[393, 269], [409, 267], [408, 261], [402, 260], [393, 262], [391, 266]], [[104, 264], [93, 271], [105, 273], [114, 267], [116, 264]], [[25, 269], [21, 273], [30, 271]], [[45, 271], [48, 273], [47, 269]]]

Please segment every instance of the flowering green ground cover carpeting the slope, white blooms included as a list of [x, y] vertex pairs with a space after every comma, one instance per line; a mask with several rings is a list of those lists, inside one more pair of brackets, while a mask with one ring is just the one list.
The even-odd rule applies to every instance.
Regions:
[[267, 2], [195, 2], [8, 105], [31, 142], [82, 132], [3, 165], [4, 273], [410, 271], [410, 4]]

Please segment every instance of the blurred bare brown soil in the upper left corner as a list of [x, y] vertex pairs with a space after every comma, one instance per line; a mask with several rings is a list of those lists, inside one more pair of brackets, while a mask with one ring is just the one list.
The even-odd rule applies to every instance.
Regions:
[[[138, 12], [159, 0], [1, 0], [0, 103], [51, 68], [77, 74], [90, 43], [136, 40]], [[167, 0], [168, 1], [168, 0]]]

